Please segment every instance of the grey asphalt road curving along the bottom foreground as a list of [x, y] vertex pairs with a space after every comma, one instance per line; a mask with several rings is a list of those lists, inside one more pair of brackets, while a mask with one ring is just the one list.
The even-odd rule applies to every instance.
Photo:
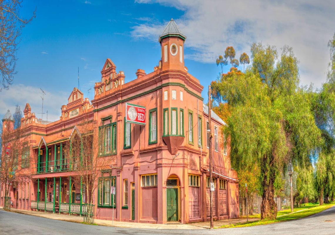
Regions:
[[213, 230], [160, 230], [129, 229], [106, 226], [84, 225], [52, 220], [42, 217], [0, 211], [0, 234], [47, 235], [47, 234], [257, 234], [257, 235], [324, 235], [335, 234], [335, 206], [304, 219], [263, 226]]

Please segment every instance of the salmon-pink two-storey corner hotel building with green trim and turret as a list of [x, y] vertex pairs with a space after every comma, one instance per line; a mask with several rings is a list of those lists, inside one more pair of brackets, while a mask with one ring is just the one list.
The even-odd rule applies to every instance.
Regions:
[[[208, 221], [209, 135], [214, 219], [238, 217], [238, 178], [221, 132], [226, 124], [213, 111], [208, 119], [204, 87], [184, 65], [185, 40], [172, 19], [159, 36], [161, 59], [153, 72], [138, 69], [137, 78], [127, 83], [107, 59], [94, 99], [74, 88], [58, 121], [37, 119], [27, 103], [21, 120], [28, 130], [26, 155], [38, 157], [18, 166], [26, 167], [30, 176], [10, 187], [12, 207], [74, 215], [86, 210], [87, 192], [74, 180], [74, 164], [64, 151], [85, 119], [95, 122], [103, 136], [93, 157], [113, 157], [96, 182], [94, 218], [158, 224]], [[9, 111], [2, 121], [11, 125]], [[4, 186], [1, 182], [1, 205]]]

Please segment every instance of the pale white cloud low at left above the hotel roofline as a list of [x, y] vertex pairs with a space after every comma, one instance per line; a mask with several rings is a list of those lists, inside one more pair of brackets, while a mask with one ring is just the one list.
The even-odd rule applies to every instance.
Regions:
[[[61, 115], [61, 106], [67, 104], [67, 98], [70, 95], [69, 92], [55, 92], [43, 89], [46, 93], [44, 95], [43, 104], [43, 119], [47, 119], [48, 110], [48, 121], [59, 120]], [[6, 111], [9, 109], [13, 114], [15, 111], [15, 105], [18, 104], [23, 112], [26, 103], [30, 104], [31, 112], [35, 112], [36, 117], [41, 118], [42, 112], [42, 91], [39, 87], [25, 86], [23, 84], [14, 84], [9, 90], [2, 90], [0, 92], [0, 114], [1, 119]]]

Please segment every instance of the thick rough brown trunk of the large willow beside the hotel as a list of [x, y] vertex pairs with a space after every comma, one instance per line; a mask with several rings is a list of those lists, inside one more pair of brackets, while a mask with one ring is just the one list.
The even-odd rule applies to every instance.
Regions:
[[[271, 156], [271, 158], [273, 158]], [[271, 159], [272, 160], [272, 159]], [[269, 219], [275, 220], [277, 217], [277, 204], [274, 201], [274, 180], [275, 180], [275, 173], [274, 167], [271, 163], [269, 166], [266, 166], [267, 161], [265, 160], [263, 163], [263, 180], [262, 180], [262, 188], [263, 188], [263, 197], [261, 203], [261, 220]], [[270, 170], [268, 170], [268, 167]]]

